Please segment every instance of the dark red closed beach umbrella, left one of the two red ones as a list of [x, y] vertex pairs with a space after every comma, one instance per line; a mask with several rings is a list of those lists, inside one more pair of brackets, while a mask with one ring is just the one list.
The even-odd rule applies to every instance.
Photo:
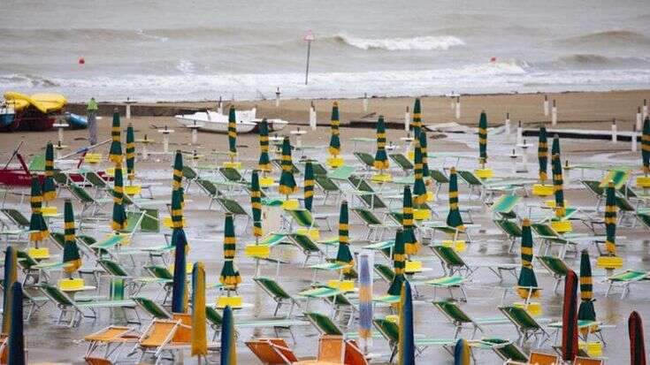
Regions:
[[577, 355], [577, 275], [569, 270], [564, 280], [562, 302], [562, 360], [573, 361]]

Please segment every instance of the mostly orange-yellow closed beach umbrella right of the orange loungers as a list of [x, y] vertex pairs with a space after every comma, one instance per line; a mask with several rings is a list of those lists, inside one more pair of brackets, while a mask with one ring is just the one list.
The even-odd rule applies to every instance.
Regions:
[[195, 262], [192, 268], [192, 356], [208, 354], [205, 324], [205, 267], [203, 262]]

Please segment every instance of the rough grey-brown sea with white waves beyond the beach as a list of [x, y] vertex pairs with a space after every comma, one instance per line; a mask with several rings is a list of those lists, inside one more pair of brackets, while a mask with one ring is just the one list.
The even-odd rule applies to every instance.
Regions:
[[650, 88], [648, 0], [2, 0], [0, 41], [70, 101]]

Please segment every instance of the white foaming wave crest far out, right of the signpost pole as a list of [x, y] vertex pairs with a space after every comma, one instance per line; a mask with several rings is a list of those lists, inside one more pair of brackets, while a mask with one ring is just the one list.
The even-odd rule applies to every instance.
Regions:
[[463, 40], [451, 35], [424, 35], [412, 38], [359, 38], [337, 34], [334, 40], [358, 49], [447, 50], [464, 46]]

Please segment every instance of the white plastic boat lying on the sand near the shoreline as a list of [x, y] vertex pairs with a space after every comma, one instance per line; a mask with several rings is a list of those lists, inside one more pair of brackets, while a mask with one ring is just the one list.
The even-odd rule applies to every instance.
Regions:
[[[197, 111], [194, 114], [180, 114], [174, 116], [180, 125], [197, 125], [199, 131], [227, 133], [228, 116], [217, 111]], [[262, 119], [256, 118], [256, 109], [235, 110], [237, 119], [237, 133], [251, 133], [256, 130], [257, 123]], [[287, 126], [288, 122], [282, 119], [266, 119], [270, 132], [276, 132]]]

